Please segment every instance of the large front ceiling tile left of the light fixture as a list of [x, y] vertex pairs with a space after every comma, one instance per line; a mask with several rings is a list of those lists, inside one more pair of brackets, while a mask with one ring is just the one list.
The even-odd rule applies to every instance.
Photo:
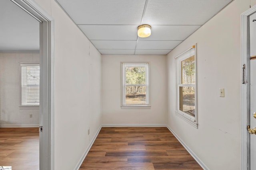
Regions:
[[77, 24], [139, 25], [146, 0], [57, 0]]

